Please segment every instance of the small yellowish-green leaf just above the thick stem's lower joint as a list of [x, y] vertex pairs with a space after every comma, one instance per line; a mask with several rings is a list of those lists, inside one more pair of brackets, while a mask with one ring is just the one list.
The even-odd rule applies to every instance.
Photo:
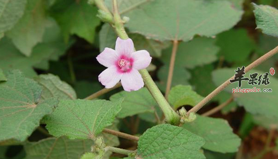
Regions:
[[178, 85], [171, 89], [168, 97], [169, 103], [178, 109], [184, 105], [195, 106], [203, 99], [202, 96], [198, 95], [196, 92], [192, 91], [191, 86]]

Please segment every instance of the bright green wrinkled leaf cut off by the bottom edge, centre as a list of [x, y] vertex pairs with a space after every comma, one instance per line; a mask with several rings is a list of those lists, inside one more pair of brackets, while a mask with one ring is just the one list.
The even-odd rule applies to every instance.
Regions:
[[205, 158], [200, 151], [204, 143], [202, 137], [182, 127], [160, 124], [148, 129], [140, 137], [136, 158]]

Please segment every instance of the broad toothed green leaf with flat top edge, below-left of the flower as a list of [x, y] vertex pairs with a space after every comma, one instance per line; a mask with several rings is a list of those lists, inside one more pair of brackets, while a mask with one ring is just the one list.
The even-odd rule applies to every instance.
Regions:
[[58, 108], [44, 118], [50, 134], [70, 139], [95, 138], [111, 125], [121, 109], [122, 100], [61, 100]]

